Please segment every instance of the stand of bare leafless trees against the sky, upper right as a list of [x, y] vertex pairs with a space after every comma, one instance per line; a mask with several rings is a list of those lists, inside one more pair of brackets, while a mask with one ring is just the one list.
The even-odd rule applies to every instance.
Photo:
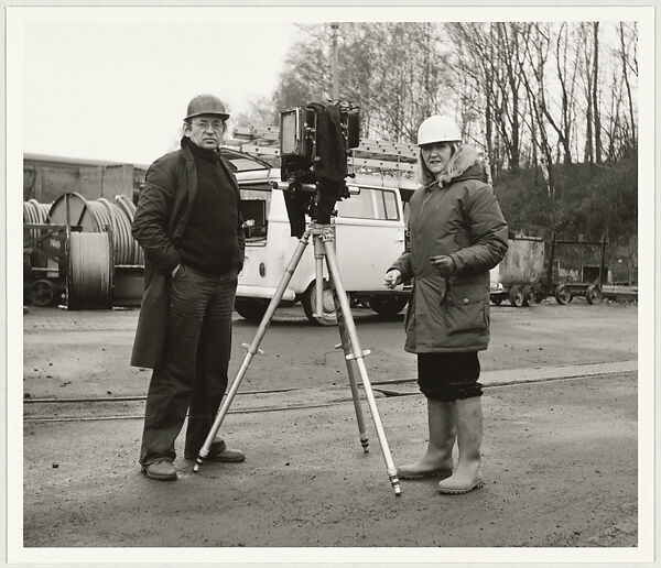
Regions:
[[[553, 189], [559, 160], [600, 164], [636, 148], [637, 30], [613, 31], [618, 45], [604, 50], [610, 28], [593, 22], [343, 23], [339, 94], [360, 105], [364, 138], [414, 142], [426, 117], [454, 113], [494, 178], [543, 159]], [[275, 108], [329, 98], [329, 50], [327, 24], [301, 26]]]

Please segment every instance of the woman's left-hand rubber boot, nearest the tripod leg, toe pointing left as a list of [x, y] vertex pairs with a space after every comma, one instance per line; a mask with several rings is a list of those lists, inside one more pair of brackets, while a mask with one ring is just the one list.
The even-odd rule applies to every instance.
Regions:
[[414, 463], [397, 469], [401, 479], [448, 477], [452, 474], [452, 448], [455, 441], [454, 401], [427, 398], [430, 443], [426, 454]]

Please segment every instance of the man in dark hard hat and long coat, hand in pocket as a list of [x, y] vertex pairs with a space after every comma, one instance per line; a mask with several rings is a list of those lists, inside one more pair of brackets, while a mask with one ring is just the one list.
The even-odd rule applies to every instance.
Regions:
[[[133, 220], [145, 286], [131, 364], [153, 369], [140, 452], [152, 479], [176, 479], [174, 441], [186, 413], [184, 456], [195, 459], [227, 387], [245, 248], [239, 187], [218, 150], [228, 118], [213, 95], [191, 101], [181, 149], [150, 166]], [[216, 439], [207, 459], [245, 456]]]

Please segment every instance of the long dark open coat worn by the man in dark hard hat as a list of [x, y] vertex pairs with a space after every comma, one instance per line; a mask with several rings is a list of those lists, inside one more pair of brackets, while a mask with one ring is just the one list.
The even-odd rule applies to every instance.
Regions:
[[[187, 139], [182, 140], [180, 150], [165, 154], [149, 167], [133, 219], [133, 237], [144, 250], [144, 292], [131, 354], [133, 367], [156, 367], [165, 343], [171, 272], [181, 262], [175, 244], [184, 233], [197, 192], [195, 160], [188, 143]], [[220, 157], [220, 167], [240, 198], [234, 166]], [[240, 216], [237, 234], [242, 264], [245, 239]]]

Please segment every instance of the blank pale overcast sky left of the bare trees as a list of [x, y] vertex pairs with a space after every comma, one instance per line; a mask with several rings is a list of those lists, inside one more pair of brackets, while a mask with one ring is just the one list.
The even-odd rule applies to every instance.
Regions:
[[24, 35], [24, 151], [150, 163], [178, 139], [188, 100], [230, 112], [270, 96], [291, 23], [33, 23]]

